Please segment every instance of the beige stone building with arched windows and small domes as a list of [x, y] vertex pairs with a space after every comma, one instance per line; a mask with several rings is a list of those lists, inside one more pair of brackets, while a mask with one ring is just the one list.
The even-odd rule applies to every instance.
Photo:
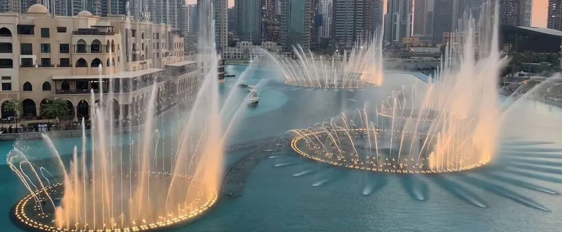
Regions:
[[19, 99], [23, 119], [41, 120], [53, 98], [67, 100], [75, 120], [89, 117], [99, 101], [134, 116], [146, 108], [153, 83], [157, 110], [164, 108], [197, 84], [197, 63], [185, 61], [183, 43], [169, 25], [126, 16], [51, 16], [41, 4], [21, 15], [1, 13], [2, 119], [13, 116], [5, 103]]

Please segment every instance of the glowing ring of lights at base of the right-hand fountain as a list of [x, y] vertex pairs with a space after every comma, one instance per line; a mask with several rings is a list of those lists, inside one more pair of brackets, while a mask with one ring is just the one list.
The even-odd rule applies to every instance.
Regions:
[[[391, 130], [382, 130], [382, 129], [365, 129], [365, 128], [359, 128], [359, 129], [337, 129], [335, 130], [337, 132], [341, 132], [341, 133], [391, 133]], [[398, 130], [394, 130], [395, 133], [405, 133], [409, 136], [413, 136], [414, 138], [421, 138], [421, 137], [428, 137], [427, 134], [424, 133], [414, 133], [414, 132], [410, 132], [410, 131], [398, 131]], [[327, 135], [328, 132], [323, 130], [323, 131], [311, 131], [309, 133], [302, 133], [297, 135], [296, 137], [293, 138], [293, 140], [291, 141], [291, 148], [293, 149], [293, 151], [295, 151], [297, 154], [306, 157], [306, 158], [310, 158], [311, 160], [317, 161], [317, 162], [321, 162], [321, 163], [328, 163], [329, 165], [333, 165], [333, 166], [338, 166], [338, 167], [345, 167], [347, 169], [354, 169], [354, 170], [364, 170], [364, 171], [373, 171], [373, 172], [387, 172], [387, 173], [395, 173], [395, 174], [442, 174], [442, 173], [450, 173], [450, 172], [462, 172], [462, 171], [467, 171], [467, 170], [473, 170], [473, 169], [477, 169], [479, 167], [483, 167], [484, 165], [490, 163], [490, 158], [487, 158], [485, 160], [480, 160], [477, 163], [473, 163], [470, 165], [465, 165], [465, 166], [461, 166], [461, 167], [451, 167], [451, 168], [447, 168], [447, 169], [439, 169], [439, 170], [432, 170], [432, 169], [422, 169], [422, 166], [418, 166], [417, 169], [414, 170], [405, 170], [405, 169], [400, 169], [399, 167], [393, 167], [391, 165], [380, 165], [381, 167], [372, 167], [372, 166], [367, 166], [365, 165], [365, 163], [361, 162], [357, 162], [357, 163], [346, 163], [343, 162], [341, 160], [329, 160], [328, 158], [322, 158], [320, 156], [317, 156], [316, 154], [314, 154], [314, 151], [311, 151], [310, 149], [305, 149], [306, 151], [303, 151], [303, 149], [300, 148], [300, 143], [306, 143], [306, 138], [310, 138], [312, 136], [318, 138], [321, 135]], [[474, 147], [475, 148], [475, 147]], [[475, 148], [477, 149], [477, 148]], [[309, 153], [310, 152], [310, 153]], [[423, 161], [427, 161], [429, 158], [421, 158], [420, 160]], [[372, 163], [369, 163], [372, 164]], [[419, 165], [420, 163], [418, 163]], [[400, 166], [400, 165], [398, 165]]]

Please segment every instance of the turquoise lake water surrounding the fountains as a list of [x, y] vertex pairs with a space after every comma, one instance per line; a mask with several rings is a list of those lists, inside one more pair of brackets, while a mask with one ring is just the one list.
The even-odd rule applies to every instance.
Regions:
[[[226, 69], [241, 72], [245, 66]], [[248, 82], [274, 76], [258, 68]], [[234, 81], [227, 78], [225, 88], [237, 88]], [[378, 102], [416, 81], [414, 75], [387, 74], [384, 88], [353, 91], [270, 81], [233, 139], [253, 140], [311, 126], [362, 108], [363, 102]], [[501, 154], [488, 169], [443, 176], [371, 174], [321, 166], [284, 149], [252, 171], [242, 197], [220, 201], [208, 215], [176, 231], [560, 231], [562, 198], [552, 193], [562, 192], [562, 154], [539, 149], [560, 148], [562, 111], [534, 101], [520, 102], [520, 108], [513, 124], [504, 128]], [[518, 138], [507, 138], [513, 136]], [[79, 142], [64, 141], [57, 141], [61, 149]], [[529, 143], [533, 141], [555, 143]], [[246, 153], [228, 154], [227, 165]], [[282, 163], [287, 165], [275, 166]], [[7, 214], [25, 191], [10, 173], [0, 185], [0, 210]], [[20, 231], [7, 217], [0, 217], [0, 225]]]

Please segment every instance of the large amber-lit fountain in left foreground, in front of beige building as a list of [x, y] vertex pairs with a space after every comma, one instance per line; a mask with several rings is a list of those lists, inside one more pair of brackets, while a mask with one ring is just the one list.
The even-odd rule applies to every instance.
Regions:
[[206, 73], [192, 110], [174, 126], [179, 130], [165, 137], [156, 126], [157, 105], [166, 102], [157, 99], [157, 83], [142, 107], [138, 138], [135, 126], [130, 137], [114, 136], [125, 130], [113, 123], [123, 115], [115, 117], [112, 101], [104, 99], [125, 96], [92, 92], [92, 102], [99, 99], [90, 108], [92, 130], [85, 130], [83, 120], [82, 147], [74, 147], [71, 157], [58, 153], [45, 134], [54, 154], [50, 162], [31, 160], [33, 154], [20, 148], [8, 154], [8, 165], [29, 190], [14, 207], [18, 225], [37, 231], [159, 230], [196, 219], [216, 203], [226, 137], [246, 106], [226, 99], [220, 107], [211, 9], [203, 4], [209, 26], [201, 33], [198, 60]]

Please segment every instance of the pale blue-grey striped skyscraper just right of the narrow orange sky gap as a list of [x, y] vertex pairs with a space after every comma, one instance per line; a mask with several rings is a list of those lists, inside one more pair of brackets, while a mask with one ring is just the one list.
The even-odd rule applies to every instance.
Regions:
[[412, 0], [388, 0], [384, 16], [384, 40], [400, 44], [412, 35]]

